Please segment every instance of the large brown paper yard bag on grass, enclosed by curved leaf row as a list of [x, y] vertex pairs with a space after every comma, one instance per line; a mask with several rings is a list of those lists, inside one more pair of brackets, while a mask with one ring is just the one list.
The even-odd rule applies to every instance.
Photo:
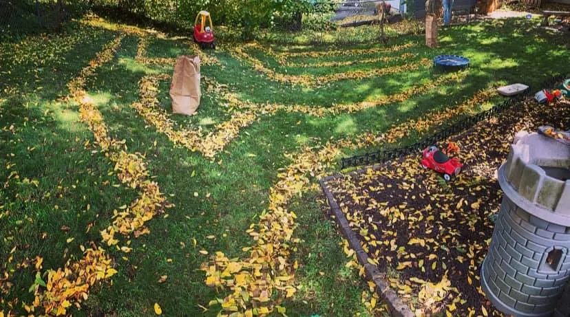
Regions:
[[190, 116], [200, 105], [200, 57], [178, 56], [170, 85], [172, 112]]

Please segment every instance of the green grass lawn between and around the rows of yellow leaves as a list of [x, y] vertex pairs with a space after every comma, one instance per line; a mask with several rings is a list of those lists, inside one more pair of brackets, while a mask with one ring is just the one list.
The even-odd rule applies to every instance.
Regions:
[[[341, 138], [350, 140], [361, 133], [382, 133], [393, 124], [454, 107], [494, 85], [537, 85], [551, 74], [568, 72], [570, 67], [563, 59], [567, 55], [567, 39], [538, 29], [538, 23], [508, 20], [445, 28], [441, 30], [441, 45], [435, 50], [422, 44], [423, 36], [394, 36], [388, 46], [416, 43], [402, 51], [416, 54], [410, 59], [412, 62], [451, 53], [471, 58], [472, 67], [459, 83], [411, 94], [403, 100], [396, 98], [381, 107], [322, 118], [283, 110], [260, 113], [255, 122], [240, 129], [237, 138], [230, 140], [214, 160], [174, 146], [131, 107], [139, 99], [138, 82], [143, 76], [171, 74], [173, 67], [137, 61], [138, 36], [127, 34], [114, 59], [88, 78], [85, 90], [103, 114], [109, 135], [124, 140], [129, 153], [145, 156], [151, 179], [174, 205], [148, 221], [149, 234], [123, 238], [120, 245], [129, 240], [133, 248], [129, 253], [101, 245], [99, 232], [112, 223], [113, 210], [129, 205], [137, 192], [120, 184], [114, 164], [100, 152], [92, 132], [81, 122], [79, 106], [64, 98], [69, 92], [66, 84], [119, 31], [74, 22], [60, 35], [0, 43], [0, 311], [23, 314], [25, 305], [32, 304], [34, 294], [28, 289], [35, 280], [38, 256], [43, 259], [43, 268], [39, 270], [43, 274], [63, 267], [70, 259], [80, 259], [81, 246], [93, 242], [107, 250], [118, 274], [92, 287], [81, 308], [70, 308], [72, 314], [152, 316], [154, 303], [159, 303], [166, 316], [200, 316], [199, 305], [208, 307], [210, 300], [224, 298], [227, 293], [217, 292], [204, 283], [200, 265], [209, 260], [209, 255], [199, 250], [207, 250], [210, 255], [222, 251], [229, 257], [246, 256], [242, 248], [254, 243], [246, 230], [268, 209], [269, 188], [279, 180], [278, 173], [293, 162], [285, 153], [295, 157], [295, 153], [304, 151], [304, 146]], [[294, 42], [277, 41], [281, 38], [279, 34], [266, 36], [262, 45], [271, 46], [275, 52], [288, 52], [291, 47], [296, 52], [343, 49], [337, 43], [311, 45], [302, 41], [294, 47]], [[380, 44], [358, 44], [350, 49], [377, 46]], [[259, 50], [246, 52], [279, 74], [326, 76], [406, 62], [289, 69]], [[191, 53], [180, 39], [150, 39], [147, 47], [149, 57], [173, 58]], [[401, 91], [441, 76], [428, 67], [310, 88], [266, 78], [227, 50], [206, 54], [218, 58], [219, 65], [202, 65], [202, 75], [226, 85], [240, 100], [259, 105], [272, 102], [284, 107], [335, 107], [398, 96]], [[398, 54], [401, 52], [298, 57], [292, 61], [317, 63]], [[168, 89], [169, 81], [158, 85], [158, 107], [166, 111], [171, 109]], [[498, 98], [475, 102], [474, 109], [478, 111], [483, 103], [495, 100]], [[177, 129], [202, 127], [207, 133], [215, 131], [216, 124], [229, 120], [233, 112], [225, 104], [217, 94], [204, 94], [196, 116], [169, 117]], [[461, 114], [441, 124], [459, 117]], [[398, 142], [411, 142], [416, 137], [412, 135]], [[344, 155], [372, 149], [377, 147], [356, 146], [344, 149]], [[328, 166], [326, 173], [338, 168]], [[310, 178], [315, 184], [317, 179]], [[282, 305], [288, 316], [365, 316], [369, 313], [362, 297], [363, 292], [368, 292], [368, 285], [357, 270], [345, 267], [350, 259], [343, 252], [339, 232], [322, 208], [315, 186], [289, 201], [288, 210], [297, 215], [298, 227], [293, 236], [301, 239], [290, 261], [298, 261], [298, 290]], [[159, 283], [160, 276], [165, 275], [166, 281]], [[214, 305], [204, 314], [215, 316], [218, 311], [220, 306]], [[35, 312], [42, 311], [36, 308]]]

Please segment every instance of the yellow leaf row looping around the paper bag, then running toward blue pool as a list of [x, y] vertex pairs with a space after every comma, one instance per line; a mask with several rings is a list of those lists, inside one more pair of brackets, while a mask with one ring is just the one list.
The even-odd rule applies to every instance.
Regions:
[[[147, 64], [173, 64], [175, 62], [173, 58], [148, 58], [146, 53], [148, 42], [148, 36], [142, 34], [136, 52], [137, 61]], [[208, 58], [203, 52], [201, 55], [203, 58]], [[329, 113], [359, 111], [368, 107], [378, 107], [388, 103], [402, 102], [423, 91], [439, 87], [439, 85], [463, 80], [465, 76], [466, 73], [440, 76], [436, 78], [436, 80], [416, 85], [415, 87], [392, 96], [383, 96], [377, 100], [368, 102], [358, 102], [350, 105], [332, 105], [330, 107], [310, 107], [306, 105], [288, 106], [268, 103], [259, 105], [252, 102], [244, 102], [238, 98], [236, 94], [220, 85], [220, 83], [213, 78], [204, 77], [204, 83], [207, 84], [205, 89], [207, 94], [218, 95], [218, 97], [227, 102], [230, 111], [237, 109], [244, 111], [234, 111], [230, 120], [218, 124], [215, 131], [207, 135], [202, 133], [200, 127], [175, 127], [173, 120], [169, 118], [166, 111], [158, 107], [158, 99], [156, 98], [158, 94], [158, 82], [159, 80], [169, 80], [170, 76], [168, 74], [151, 75], [142, 78], [139, 83], [140, 101], [135, 102], [132, 107], [136, 109], [147, 122], [152, 124], [157, 131], [165, 133], [174, 144], [184, 146], [191, 151], [199, 151], [204, 156], [213, 159], [219, 151], [224, 149], [226, 144], [237, 137], [240, 129], [249, 126], [249, 124], [255, 121], [257, 118], [256, 113], [273, 115], [279, 110], [284, 110], [288, 112], [302, 112], [314, 116], [324, 116]]]

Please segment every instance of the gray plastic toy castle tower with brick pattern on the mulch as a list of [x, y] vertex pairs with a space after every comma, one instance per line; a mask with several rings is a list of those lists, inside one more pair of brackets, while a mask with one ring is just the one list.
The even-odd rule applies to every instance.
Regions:
[[570, 146], [517, 133], [498, 170], [505, 192], [481, 265], [487, 298], [514, 316], [570, 316]]

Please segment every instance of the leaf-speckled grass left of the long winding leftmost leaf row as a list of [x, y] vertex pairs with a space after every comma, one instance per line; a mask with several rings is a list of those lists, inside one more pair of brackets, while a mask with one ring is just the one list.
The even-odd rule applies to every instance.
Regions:
[[[23, 264], [41, 256], [44, 267], [61, 267], [81, 257], [79, 246], [99, 241], [112, 210], [133, 194], [112, 186], [112, 166], [92, 153], [92, 142], [85, 143], [92, 134], [78, 123], [76, 107], [60, 100], [67, 81], [115, 35], [79, 29], [72, 26], [63, 35], [63, 42], [81, 36], [65, 50], [52, 36], [34, 36], [27, 42], [32, 47], [2, 50], [2, 81], [17, 91], [0, 95], [0, 259], [14, 270], [14, 286], [2, 296], [8, 301], [33, 300], [33, 269]], [[21, 56], [20, 49], [37, 50], [38, 56]]]

